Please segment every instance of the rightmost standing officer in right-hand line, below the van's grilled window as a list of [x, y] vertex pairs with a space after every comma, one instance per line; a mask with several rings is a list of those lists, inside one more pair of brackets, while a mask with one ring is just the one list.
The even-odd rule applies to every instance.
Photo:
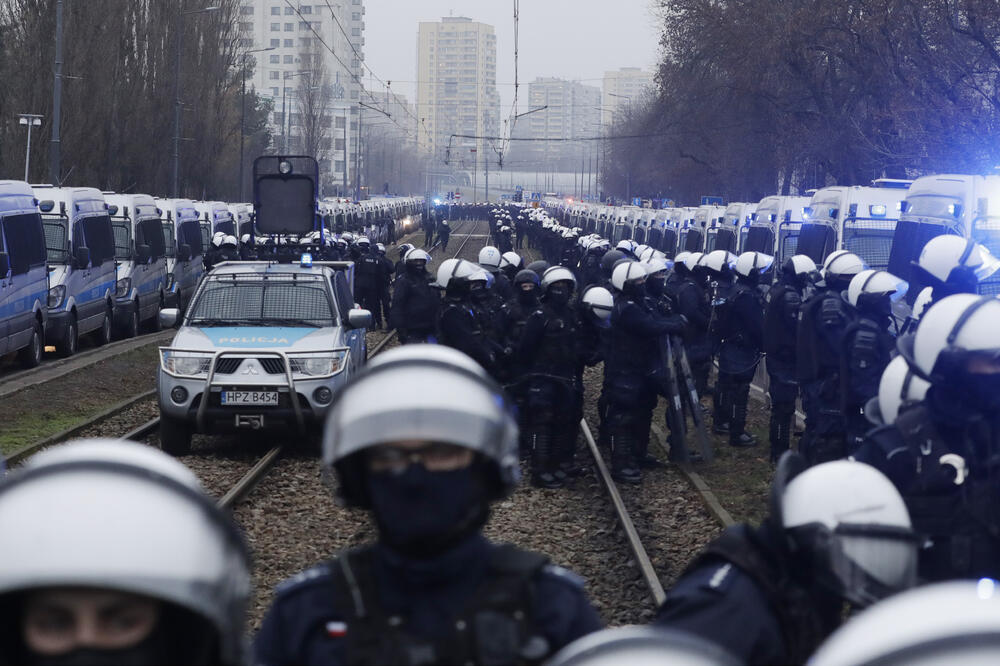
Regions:
[[906, 295], [906, 282], [886, 271], [867, 270], [854, 276], [844, 298], [854, 319], [844, 331], [840, 357], [841, 409], [847, 452], [853, 453], [869, 429], [865, 404], [878, 394], [882, 371], [892, 358], [896, 338], [889, 332], [892, 303]]

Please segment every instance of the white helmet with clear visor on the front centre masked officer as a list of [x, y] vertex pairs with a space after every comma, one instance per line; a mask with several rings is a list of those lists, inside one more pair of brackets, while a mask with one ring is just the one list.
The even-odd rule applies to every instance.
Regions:
[[[415, 390], [421, 386], [434, 390]], [[323, 462], [337, 472], [343, 502], [369, 507], [357, 454], [407, 440], [452, 444], [479, 454], [489, 498], [499, 499], [520, 480], [517, 437], [503, 389], [475, 361], [443, 345], [406, 345], [369, 361], [336, 393]]]

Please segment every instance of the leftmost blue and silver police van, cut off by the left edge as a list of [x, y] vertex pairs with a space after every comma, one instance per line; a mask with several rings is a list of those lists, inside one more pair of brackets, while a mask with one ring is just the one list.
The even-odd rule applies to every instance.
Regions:
[[34, 192], [0, 180], [0, 356], [17, 352], [26, 368], [42, 362], [48, 318], [45, 233]]

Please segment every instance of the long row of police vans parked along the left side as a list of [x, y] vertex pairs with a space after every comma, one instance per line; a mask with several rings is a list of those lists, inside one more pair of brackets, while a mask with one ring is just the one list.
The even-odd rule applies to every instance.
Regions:
[[[336, 202], [323, 219], [332, 231], [333, 211], [390, 215], [403, 228], [421, 203]], [[46, 346], [70, 356], [83, 336], [100, 345], [157, 327], [161, 309], [190, 301], [213, 234], [252, 237], [253, 219], [250, 204], [0, 180], [0, 356], [34, 367]]]

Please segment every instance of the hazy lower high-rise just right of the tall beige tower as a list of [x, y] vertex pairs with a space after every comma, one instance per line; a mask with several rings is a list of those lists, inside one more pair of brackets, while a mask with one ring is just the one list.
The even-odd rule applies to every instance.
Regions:
[[600, 134], [601, 91], [579, 81], [536, 78], [528, 84], [528, 109], [539, 109], [517, 121], [510, 159], [517, 164], [554, 171], [579, 168], [588, 146], [573, 141]]

